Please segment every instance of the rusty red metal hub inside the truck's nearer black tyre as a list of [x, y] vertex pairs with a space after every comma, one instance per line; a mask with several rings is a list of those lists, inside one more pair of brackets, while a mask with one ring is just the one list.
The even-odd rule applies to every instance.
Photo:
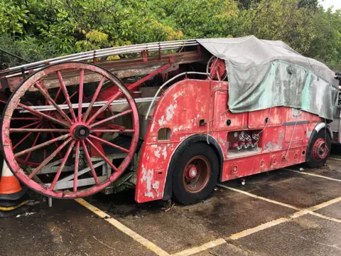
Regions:
[[204, 156], [194, 156], [183, 169], [183, 186], [190, 193], [198, 193], [210, 181], [211, 168]]

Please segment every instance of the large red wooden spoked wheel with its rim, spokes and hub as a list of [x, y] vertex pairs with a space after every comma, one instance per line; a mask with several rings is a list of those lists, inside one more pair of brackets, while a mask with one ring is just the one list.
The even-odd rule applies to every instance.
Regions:
[[[78, 89], [76, 90], [77, 93], [75, 92], [71, 94], [67, 90], [69, 85], [65, 84], [65, 79], [63, 78], [63, 71], [65, 70], [79, 72], [79, 80], [77, 84]], [[92, 95], [87, 109], [82, 107], [84, 97], [83, 94], [86, 85], [85, 73], [94, 73], [94, 75], [100, 77], [96, 90]], [[55, 79], [58, 79], [59, 82], [59, 87], [54, 89], [55, 91], [57, 90], [54, 95], [55, 97], [53, 97], [52, 94], [50, 95], [50, 88], [44, 85], [44, 78], [46, 78], [48, 75], [55, 75]], [[116, 86], [118, 90], [114, 95], [110, 95], [110, 97], [105, 103], [103, 103], [102, 106], [94, 107], [94, 102], [96, 102], [105, 80], [112, 83], [112, 86]], [[48, 107], [53, 107], [53, 110], [40, 112], [36, 109], [33, 109], [31, 104], [23, 104], [23, 98], [25, 95], [31, 93], [33, 87], [35, 87], [34, 90], [39, 97], [45, 100], [45, 105], [48, 105]], [[58, 96], [63, 96], [64, 102], [58, 103]], [[110, 105], [114, 100], [117, 100], [118, 97], [122, 96], [126, 99], [129, 109], [120, 112], [119, 114], [114, 114]], [[75, 104], [72, 103], [72, 101], [75, 102], [75, 100], [77, 101], [77, 107], [72, 106], [72, 104]], [[67, 105], [67, 107], [62, 109], [62, 107], [60, 107], [60, 103]], [[18, 109], [26, 110], [28, 114], [31, 114], [31, 117], [29, 117], [31, 118], [31, 122], [36, 123], [31, 125], [21, 125], [20, 127], [11, 126], [11, 124], [13, 124], [13, 122], [11, 122], [13, 112]], [[108, 110], [112, 115], [107, 117], [104, 114], [103, 117], [103, 113], [108, 112]], [[131, 116], [131, 129], [109, 124], [113, 122], [114, 119], [117, 119], [117, 117], [124, 115]], [[40, 122], [38, 123], [38, 121]], [[42, 126], [43, 122], [46, 125]], [[33, 137], [36, 136], [35, 143], [29, 145], [29, 148], [20, 149], [19, 151], [19, 147], [16, 148], [16, 145], [12, 144], [11, 137], [13, 138], [13, 136], [10, 136], [10, 134], [19, 133], [26, 135], [29, 134], [29, 136]], [[131, 144], [129, 149], [118, 146], [107, 141], [104, 139], [104, 137], [101, 137], [101, 134], [107, 135], [113, 133], [130, 134]], [[50, 134], [50, 137], [47, 141], [38, 143], [39, 134]], [[80, 198], [83, 196], [89, 196], [92, 193], [101, 191], [106, 186], [109, 186], [109, 184], [116, 180], [130, 164], [130, 161], [136, 151], [138, 140], [139, 115], [136, 108], [136, 103], [134, 102], [134, 98], [131, 96], [129, 90], [125, 87], [123, 82], [112, 75], [112, 73], [109, 73], [109, 71], [104, 70], [97, 65], [89, 63], [59, 63], [50, 65], [46, 68], [38, 70], [36, 73], [33, 73], [13, 92], [6, 104], [4, 115], [1, 119], [1, 146], [3, 147], [6, 163], [13, 174], [15, 174], [20, 181], [25, 183], [33, 190], [54, 198]], [[52, 146], [53, 144], [54, 149], [50, 150], [52, 152], [47, 151], [45, 155], [45, 149], [48, 146]], [[119, 166], [115, 166], [112, 161], [105, 156], [104, 151], [99, 148], [102, 147], [102, 145], [117, 149], [120, 152], [126, 154], [125, 159], [121, 161]], [[91, 169], [92, 178], [94, 178], [95, 181], [94, 186], [82, 190], [80, 190], [77, 186], [79, 171], [78, 161], [81, 148], [84, 152], [87, 165]], [[20, 157], [26, 156], [27, 158], [28, 154], [38, 151], [38, 149], [43, 149], [44, 160], [41, 161], [38, 166], [34, 166], [36, 168], [33, 169], [33, 166], [29, 166], [30, 164], [33, 165], [33, 163], [30, 161], [23, 163], [23, 159]], [[91, 152], [95, 152], [98, 157], [104, 160], [106, 164], [112, 168], [113, 172], [111, 176], [99, 181], [94, 169], [94, 164], [92, 164], [91, 161], [90, 150]], [[62, 152], [63, 154], [61, 154]], [[55, 159], [56, 156], [60, 155], [60, 160], [63, 159], [63, 161], [61, 161], [58, 171], [55, 173], [55, 176], [53, 176], [53, 180], [50, 180], [48, 185], [43, 182], [39, 182], [40, 179], [37, 178], [37, 175], [40, 174], [40, 171], [43, 169], [43, 167]], [[75, 159], [71, 160], [72, 164], [75, 166], [73, 171], [75, 178], [73, 181], [73, 191], [55, 190], [54, 187], [56, 183], [58, 183], [58, 179], [60, 178], [60, 174], [62, 173], [65, 164], [67, 164], [68, 159], [70, 160], [73, 155], [75, 155]]]

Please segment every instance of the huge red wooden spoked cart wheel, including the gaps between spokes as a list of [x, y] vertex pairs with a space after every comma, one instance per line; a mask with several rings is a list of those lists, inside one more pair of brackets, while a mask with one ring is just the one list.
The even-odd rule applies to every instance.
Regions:
[[[117, 90], [98, 101], [108, 85]], [[124, 110], [114, 109], [118, 99]], [[117, 119], [128, 122], [118, 125]], [[112, 142], [122, 134], [131, 138], [130, 146]], [[139, 140], [139, 115], [129, 90], [112, 73], [90, 63], [60, 63], [38, 70], [16, 88], [1, 119], [1, 140], [6, 163], [28, 187], [54, 198], [80, 198], [109, 186], [127, 168]], [[124, 154], [124, 160], [113, 164], [104, 148]], [[80, 171], [82, 157], [88, 171]], [[111, 167], [111, 175], [99, 177], [102, 169], [94, 164], [99, 160]], [[58, 169], [43, 174], [51, 161], [58, 161]], [[73, 176], [73, 191], [56, 186], [67, 174]], [[81, 186], [77, 181], [83, 176], [88, 183]]]

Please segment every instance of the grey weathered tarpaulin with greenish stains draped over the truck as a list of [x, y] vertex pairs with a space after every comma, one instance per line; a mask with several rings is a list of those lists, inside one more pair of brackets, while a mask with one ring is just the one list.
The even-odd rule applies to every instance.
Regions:
[[197, 42], [225, 60], [231, 112], [286, 106], [332, 120], [338, 84], [323, 63], [304, 57], [281, 41], [255, 36]]

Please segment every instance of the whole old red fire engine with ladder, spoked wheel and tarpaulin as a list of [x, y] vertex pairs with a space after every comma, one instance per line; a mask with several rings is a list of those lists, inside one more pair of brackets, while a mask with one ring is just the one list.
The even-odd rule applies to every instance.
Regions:
[[6, 164], [48, 197], [135, 188], [138, 203], [195, 203], [217, 182], [330, 153], [337, 80], [279, 41], [121, 46], [0, 78]]

